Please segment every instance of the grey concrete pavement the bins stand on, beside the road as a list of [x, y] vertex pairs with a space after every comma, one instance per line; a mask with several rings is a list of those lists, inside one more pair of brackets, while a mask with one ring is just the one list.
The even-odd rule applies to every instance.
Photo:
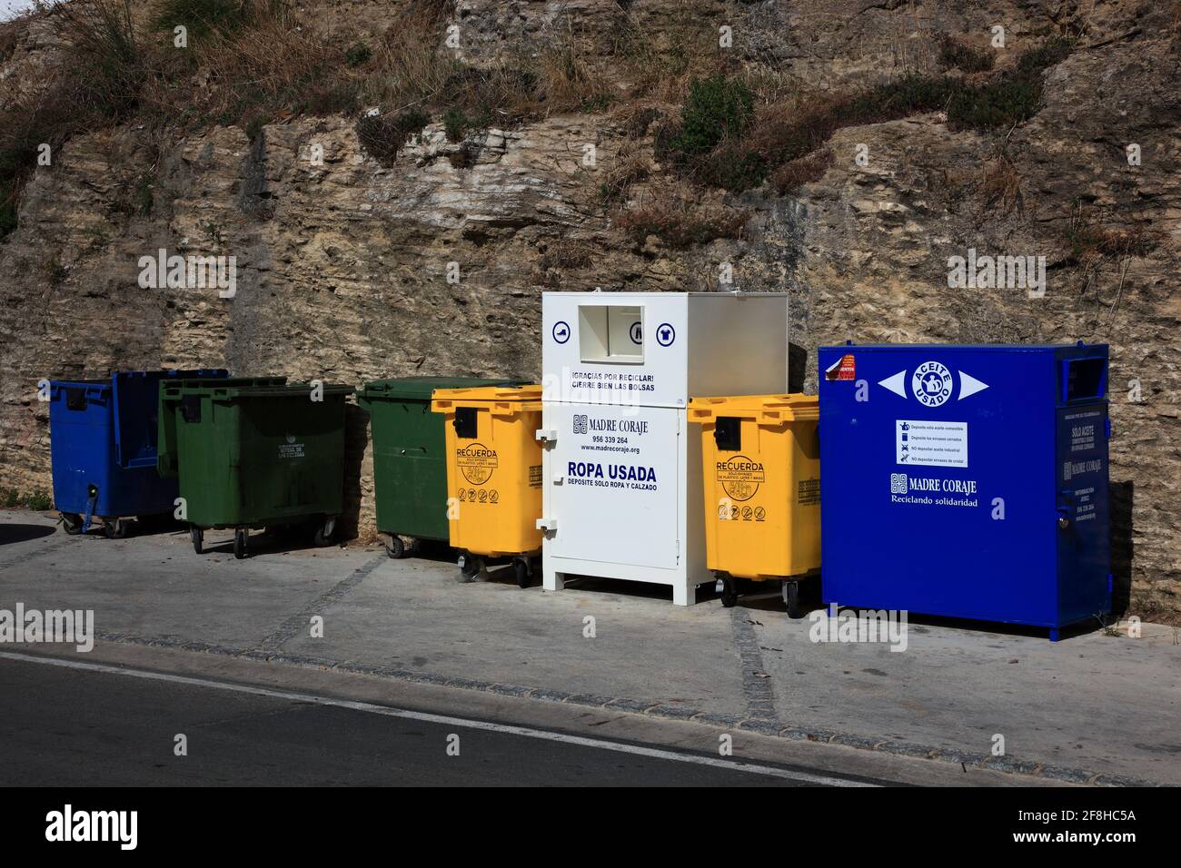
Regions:
[[[190, 648], [692, 717], [862, 757], [984, 763], [1018, 772], [1004, 776], [1014, 782], [1181, 783], [1181, 646], [1167, 631], [1055, 645], [912, 621], [907, 651], [894, 653], [815, 644], [810, 622], [788, 619], [774, 598], [683, 609], [661, 588], [601, 580], [553, 594], [522, 592], [508, 575], [458, 585], [449, 562], [390, 561], [376, 547], [286, 550], [259, 539], [253, 557], [235, 561], [228, 549], [197, 556], [180, 533], [110, 541], [47, 529], [52, 517], [0, 511], [0, 607], [93, 609], [103, 648]], [[207, 546], [220, 539], [209, 534]], [[1003, 758], [990, 755], [997, 735]]]

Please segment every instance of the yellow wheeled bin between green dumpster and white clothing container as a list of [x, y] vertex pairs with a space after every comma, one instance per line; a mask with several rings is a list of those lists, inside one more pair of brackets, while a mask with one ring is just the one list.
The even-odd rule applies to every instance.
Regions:
[[531, 583], [541, 553], [541, 386], [436, 389], [446, 416], [448, 533], [463, 581], [508, 560]]

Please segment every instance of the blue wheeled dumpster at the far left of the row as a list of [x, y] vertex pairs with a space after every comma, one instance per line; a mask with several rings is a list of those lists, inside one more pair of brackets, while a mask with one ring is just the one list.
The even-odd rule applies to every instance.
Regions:
[[102, 520], [112, 539], [129, 518], [171, 513], [176, 479], [156, 471], [159, 381], [226, 371], [122, 371], [105, 380], [51, 380], [53, 502], [67, 534]]

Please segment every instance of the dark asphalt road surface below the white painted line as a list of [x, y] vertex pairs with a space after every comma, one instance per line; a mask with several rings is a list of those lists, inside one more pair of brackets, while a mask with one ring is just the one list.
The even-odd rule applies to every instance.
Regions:
[[[521, 735], [12, 658], [0, 659], [0, 785], [816, 783], [779, 766], [743, 770], [705, 764], [720, 762], [715, 757], [644, 756], [543, 731]], [[174, 753], [178, 733], [188, 756]], [[458, 756], [448, 753], [451, 736], [458, 736]]]

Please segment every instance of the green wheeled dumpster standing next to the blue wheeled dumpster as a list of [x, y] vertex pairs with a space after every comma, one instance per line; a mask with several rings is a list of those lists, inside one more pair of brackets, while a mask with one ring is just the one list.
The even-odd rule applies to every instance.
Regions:
[[[332, 540], [342, 508], [345, 398], [351, 386], [286, 377], [178, 380], [159, 391], [157, 470], [176, 476], [193, 536], [234, 529], [234, 556], [249, 531], [304, 527]], [[315, 398], [319, 398], [317, 400]]]

